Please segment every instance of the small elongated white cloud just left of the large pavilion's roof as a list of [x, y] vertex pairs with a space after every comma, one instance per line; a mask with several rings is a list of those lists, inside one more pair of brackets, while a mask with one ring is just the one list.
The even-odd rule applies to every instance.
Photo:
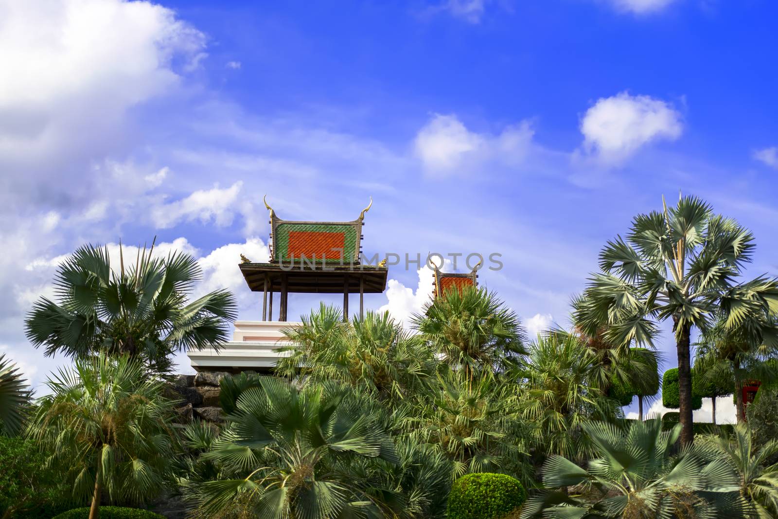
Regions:
[[235, 206], [242, 187], [241, 181], [229, 188], [219, 188], [216, 185], [212, 189], [195, 191], [176, 202], [156, 205], [152, 208], [152, 221], [161, 229], [194, 220], [202, 223], [213, 221], [217, 226], [230, 225], [236, 213]]

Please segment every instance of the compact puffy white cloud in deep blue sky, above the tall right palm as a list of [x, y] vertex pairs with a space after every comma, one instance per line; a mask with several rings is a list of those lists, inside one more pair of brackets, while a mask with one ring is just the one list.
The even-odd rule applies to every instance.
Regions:
[[581, 120], [584, 151], [605, 163], [619, 163], [649, 142], [681, 136], [681, 114], [650, 96], [622, 92], [604, 97]]

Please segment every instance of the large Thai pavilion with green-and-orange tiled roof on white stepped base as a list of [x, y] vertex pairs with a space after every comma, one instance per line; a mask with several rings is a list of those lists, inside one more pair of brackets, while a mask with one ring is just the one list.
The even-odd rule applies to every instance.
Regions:
[[344, 319], [349, 316], [349, 296], [358, 293], [361, 316], [363, 295], [383, 293], [387, 284], [385, 261], [363, 263], [362, 229], [370, 205], [351, 222], [296, 222], [280, 219], [265, 202], [270, 261], [254, 263], [241, 254], [237, 265], [249, 289], [261, 298], [261, 321], [236, 321], [233, 340], [218, 352], [189, 350], [191, 366], [198, 372], [270, 370], [282, 354], [279, 349], [289, 345], [284, 331], [300, 324], [287, 321], [290, 293], [342, 293]]

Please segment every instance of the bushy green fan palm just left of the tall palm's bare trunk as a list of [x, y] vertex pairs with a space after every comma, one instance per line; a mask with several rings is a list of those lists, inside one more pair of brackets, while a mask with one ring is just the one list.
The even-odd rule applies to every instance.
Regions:
[[582, 458], [588, 452], [580, 427], [592, 416], [611, 416], [612, 402], [602, 395], [591, 373], [597, 362], [575, 335], [552, 332], [530, 345], [520, 370], [520, 416], [536, 451]]

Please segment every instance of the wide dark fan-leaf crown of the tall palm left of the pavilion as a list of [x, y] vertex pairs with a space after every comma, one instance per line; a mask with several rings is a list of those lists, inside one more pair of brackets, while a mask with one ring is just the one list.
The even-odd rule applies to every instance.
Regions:
[[237, 303], [226, 290], [187, 302], [200, 268], [188, 254], [166, 258], [138, 251], [135, 265], [114, 271], [107, 247], [86, 245], [59, 265], [58, 302], [41, 297], [26, 317], [27, 338], [47, 356], [105, 350], [139, 356], [153, 370], [170, 368], [171, 352], [218, 347], [229, 340]]

